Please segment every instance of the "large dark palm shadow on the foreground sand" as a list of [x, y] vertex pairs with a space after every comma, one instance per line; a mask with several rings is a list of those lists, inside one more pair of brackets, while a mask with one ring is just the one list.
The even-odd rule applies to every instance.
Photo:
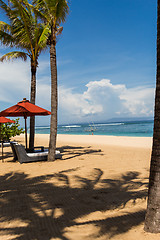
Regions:
[[[123, 208], [130, 200], [145, 199], [147, 183], [138, 172], [127, 172], [119, 179], [102, 179], [103, 171], [98, 168], [94, 168], [88, 178], [76, 175], [76, 171], [77, 168], [33, 178], [20, 172], [0, 176], [0, 219], [1, 223], [8, 223], [7, 227], [0, 227], [0, 235], [17, 240], [69, 240], [66, 228], [81, 226], [82, 230], [92, 224], [99, 227], [99, 232], [91, 239], [98, 239], [105, 234], [127, 232], [144, 221], [145, 212], [141, 210], [103, 220], [77, 222], [76, 219], [96, 211]], [[79, 187], [71, 187], [68, 175], [71, 172]], [[102, 187], [96, 188], [97, 184]], [[12, 221], [19, 224], [12, 226]]]

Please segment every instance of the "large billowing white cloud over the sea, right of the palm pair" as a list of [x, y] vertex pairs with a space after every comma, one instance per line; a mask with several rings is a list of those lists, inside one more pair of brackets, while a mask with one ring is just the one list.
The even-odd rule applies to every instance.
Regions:
[[152, 117], [154, 88], [127, 88], [110, 80], [90, 81], [82, 94], [60, 87], [60, 120], [105, 121], [112, 117]]

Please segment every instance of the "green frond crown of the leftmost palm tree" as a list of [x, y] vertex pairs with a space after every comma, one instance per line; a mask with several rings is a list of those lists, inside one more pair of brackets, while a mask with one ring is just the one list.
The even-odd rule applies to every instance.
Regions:
[[[42, 0], [46, 1], [46, 0]], [[55, 0], [53, 0], [55, 1]], [[32, 60], [47, 47], [50, 27], [38, 20], [38, 11], [28, 0], [9, 0], [9, 6], [0, 0], [0, 7], [6, 12], [9, 24], [0, 21], [0, 42], [6, 46], [24, 50]], [[43, 13], [41, 14], [41, 16]], [[11, 60], [23, 57], [20, 52], [12, 52], [2, 58]]]

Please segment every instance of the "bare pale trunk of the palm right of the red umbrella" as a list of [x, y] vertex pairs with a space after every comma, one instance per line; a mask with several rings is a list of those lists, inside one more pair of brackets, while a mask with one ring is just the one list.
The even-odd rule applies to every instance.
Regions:
[[56, 61], [56, 42], [54, 38], [54, 29], [51, 29], [50, 43], [50, 68], [51, 68], [51, 122], [50, 122], [50, 142], [48, 161], [55, 160], [56, 138], [57, 138], [57, 61]]

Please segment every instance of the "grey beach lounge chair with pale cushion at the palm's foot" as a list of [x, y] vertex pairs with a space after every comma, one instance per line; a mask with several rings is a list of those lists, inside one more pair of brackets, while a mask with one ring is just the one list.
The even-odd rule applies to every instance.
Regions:
[[[25, 147], [21, 144], [13, 144], [15, 152], [20, 163], [35, 162], [35, 161], [46, 161], [48, 157], [48, 151], [27, 153]], [[62, 158], [60, 151], [56, 150], [56, 159]]]

